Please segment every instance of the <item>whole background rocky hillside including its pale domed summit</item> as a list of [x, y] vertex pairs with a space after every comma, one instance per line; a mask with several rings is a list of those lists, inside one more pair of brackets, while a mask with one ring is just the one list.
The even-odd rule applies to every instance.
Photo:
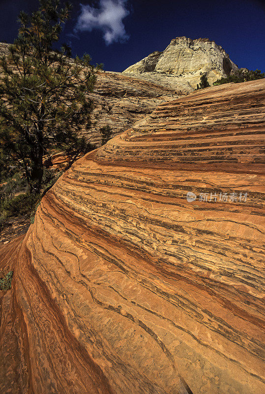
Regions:
[[[7, 53], [0, 43], [0, 56]], [[100, 145], [99, 129], [110, 125], [114, 134], [125, 131], [150, 114], [161, 102], [186, 95], [196, 88], [201, 73], [210, 83], [237, 69], [214, 41], [186, 37], [173, 39], [163, 52], [154, 52], [123, 73], [101, 71], [93, 94], [92, 128], [83, 134]]]

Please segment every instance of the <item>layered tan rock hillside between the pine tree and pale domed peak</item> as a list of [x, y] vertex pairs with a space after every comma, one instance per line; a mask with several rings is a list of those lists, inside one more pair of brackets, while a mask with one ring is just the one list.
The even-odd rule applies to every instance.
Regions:
[[[0, 43], [0, 56], [7, 53], [7, 46]], [[142, 80], [134, 75], [101, 71], [94, 92], [89, 95], [95, 106], [91, 114], [92, 127], [89, 132], [83, 131], [82, 134], [90, 142], [100, 145], [101, 127], [110, 125], [115, 135], [150, 114], [161, 102], [187, 93], [184, 88], [176, 91], [172, 87]]]

